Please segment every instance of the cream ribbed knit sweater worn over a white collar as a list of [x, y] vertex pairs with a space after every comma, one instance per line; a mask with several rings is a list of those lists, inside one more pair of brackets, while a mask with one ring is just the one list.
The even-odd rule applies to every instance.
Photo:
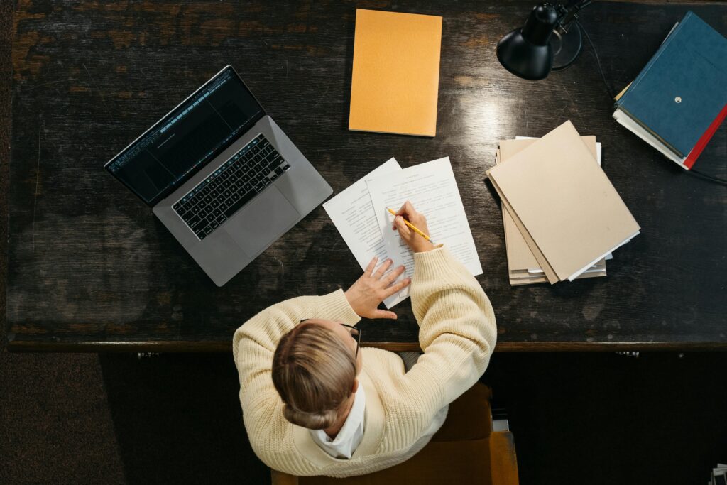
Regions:
[[[401, 463], [422, 449], [433, 418], [485, 371], [497, 337], [481, 286], [445, 248], [414, 254], [411, 306], [424, 355], [406, 372], [395, 353], [362, 348], [364, 438], [350, 460], [320, 449], [307, 429], [286, 421], [270, 373], [278, 341], [302, 318], [356, 324], [341, 290], [297, 297], [262, 310], [237, 329], [233, 353], [252, 449], [270, 468], [296, 476], [363, 475]], [[392, 321], [389, 325], [395, 325]]]

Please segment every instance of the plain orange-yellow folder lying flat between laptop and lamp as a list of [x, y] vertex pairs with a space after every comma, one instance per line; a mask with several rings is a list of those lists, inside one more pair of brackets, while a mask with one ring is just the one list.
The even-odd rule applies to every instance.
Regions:
[[348, 129], [433, 137], [442, 17], [356, 9]]

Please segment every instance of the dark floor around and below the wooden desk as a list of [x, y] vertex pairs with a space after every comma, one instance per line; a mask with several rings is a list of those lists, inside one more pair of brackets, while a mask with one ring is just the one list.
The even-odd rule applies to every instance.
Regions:
[[[3, 200], [13, 4], [0, 1]], [[6, 244], [3, 224], [0, 281]], [[510, 414], [522, 484], [681, 485], [727, 462], [726, 374], [727, 353], [496, 354], [483, 381]], [[228, 355], [1, 350], [0, 484], [265, 484], [237, 390]]]

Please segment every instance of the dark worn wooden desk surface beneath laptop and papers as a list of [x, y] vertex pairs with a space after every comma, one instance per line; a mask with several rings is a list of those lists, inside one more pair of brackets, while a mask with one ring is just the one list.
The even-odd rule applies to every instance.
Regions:
[[[20, 1], [15, 17], [7, 326], [13, 350], [230, 350], [262, 308], [361, 273], [318, 207], [218, 289], [105, 161], [226, 64], [336, 193], [390, 156], [449, 156], [494, 305], [499, 350], [727, 348], [727, 190], [611, 119], [590, 47], [545, 81], [515, 78], [495, 45], [526, 1]], [[356, 7], [442, 15], [433, 139], [349, 132]], [[614, 91], [689, 9], [727, 34], [727, 5], [596, 2], [582, 13]], [[566, 119], [603, 142], [603, 167], [642, 227], [606, 278], [513, 288], [499, 201], [483, 181], [497, 141]], [[727, 176], [727, 126], [697, 167]], [[364, 321], [369, 345], [417, 347], [409, 302]]]

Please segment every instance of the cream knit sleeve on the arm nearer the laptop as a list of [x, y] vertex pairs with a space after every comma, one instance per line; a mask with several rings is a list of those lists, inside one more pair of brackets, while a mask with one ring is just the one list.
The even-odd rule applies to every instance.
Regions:
[[[233, 356], [240, 378], [240, 404], [253, 449], [270, 442], [268, 425], [282, 419], [281, 398], [273, 385], [272, 364], [281, 337], [304, 318], [356, 324], [361, 318], [342, 290], [321, 297], [297, 297], [262, 310], [237, 329]], [[259, 456], [265, 456], [265, 452]]]

